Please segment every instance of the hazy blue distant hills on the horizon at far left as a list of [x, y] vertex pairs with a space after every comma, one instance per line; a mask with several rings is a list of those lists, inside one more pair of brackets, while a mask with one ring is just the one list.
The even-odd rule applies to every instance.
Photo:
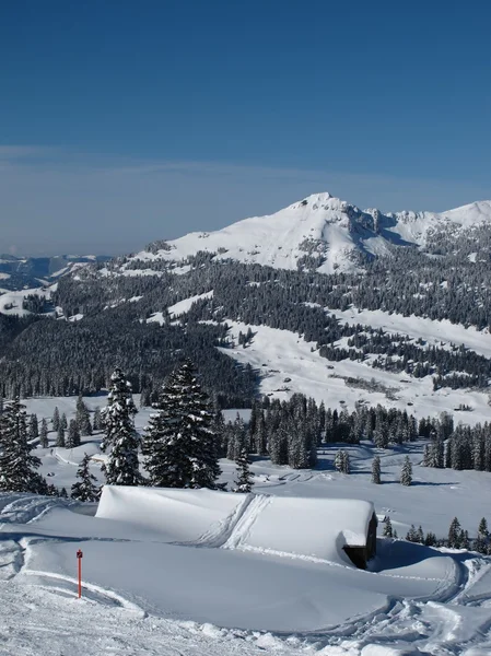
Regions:
[[110, 259], [107, 255], [57, 255], [54, 257], [16, 257], [0, 255], [0, 288], [9, 291], [37, 288], [61, 276], [95, 262]]

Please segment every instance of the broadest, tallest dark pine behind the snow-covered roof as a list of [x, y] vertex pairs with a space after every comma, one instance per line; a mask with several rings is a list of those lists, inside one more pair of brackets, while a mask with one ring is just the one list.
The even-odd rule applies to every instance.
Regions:
[[217, 489], [220, 467], [211, 402], [190, 361], [163, 384], [155, 410], [143, 438], [150, 483]]

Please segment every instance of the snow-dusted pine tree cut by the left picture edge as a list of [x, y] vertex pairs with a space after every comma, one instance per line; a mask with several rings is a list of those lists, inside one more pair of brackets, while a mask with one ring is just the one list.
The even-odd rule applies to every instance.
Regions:
[[46, 483], [36, 472], [40, 460], [32, 455], [27, 440], [25, 406], [16, 397], [5, 403], [0, 417], [0, 490], [45, 492]]

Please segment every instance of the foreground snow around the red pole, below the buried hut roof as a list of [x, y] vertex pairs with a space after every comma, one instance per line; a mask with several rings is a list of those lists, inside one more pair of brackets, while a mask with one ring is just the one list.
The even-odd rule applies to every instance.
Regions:
[[157, 511], [149, 526], [95, 509], [0, 496], [0, 654], [491, 652], [491, 562], [476, 554], [379, 540], [372, 571], [362, 572], [207, 541], [198, 518], [195, 535], [184, 529], [191, 540], [169, 542]]

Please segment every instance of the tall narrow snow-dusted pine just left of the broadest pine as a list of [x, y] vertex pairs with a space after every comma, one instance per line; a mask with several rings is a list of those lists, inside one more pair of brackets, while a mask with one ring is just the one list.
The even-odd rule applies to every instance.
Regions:
[[138, 412], [131, 396], [131, 385], [120, 368], [110, 377], [107, 406], [103, 409], [105, 436], [101, 448], [112, 447], [104, 466], [108, 485], [139, 485], [143, 478], [139, 470], [140, 436], [135, 430]]

